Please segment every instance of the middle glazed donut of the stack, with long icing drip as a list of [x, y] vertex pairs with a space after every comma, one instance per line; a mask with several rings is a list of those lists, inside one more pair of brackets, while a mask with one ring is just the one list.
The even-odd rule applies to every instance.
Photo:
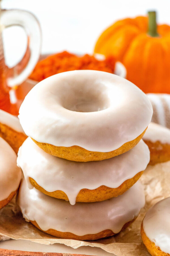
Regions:
[[123, 194], [141, 176], [150, 159], [141, 140], [128, 152], [102, 161], [74, 162], [52, 156], [27, 138], [19, 149], [17, 164], [29, 188], [58, 199], [97, 202]]

